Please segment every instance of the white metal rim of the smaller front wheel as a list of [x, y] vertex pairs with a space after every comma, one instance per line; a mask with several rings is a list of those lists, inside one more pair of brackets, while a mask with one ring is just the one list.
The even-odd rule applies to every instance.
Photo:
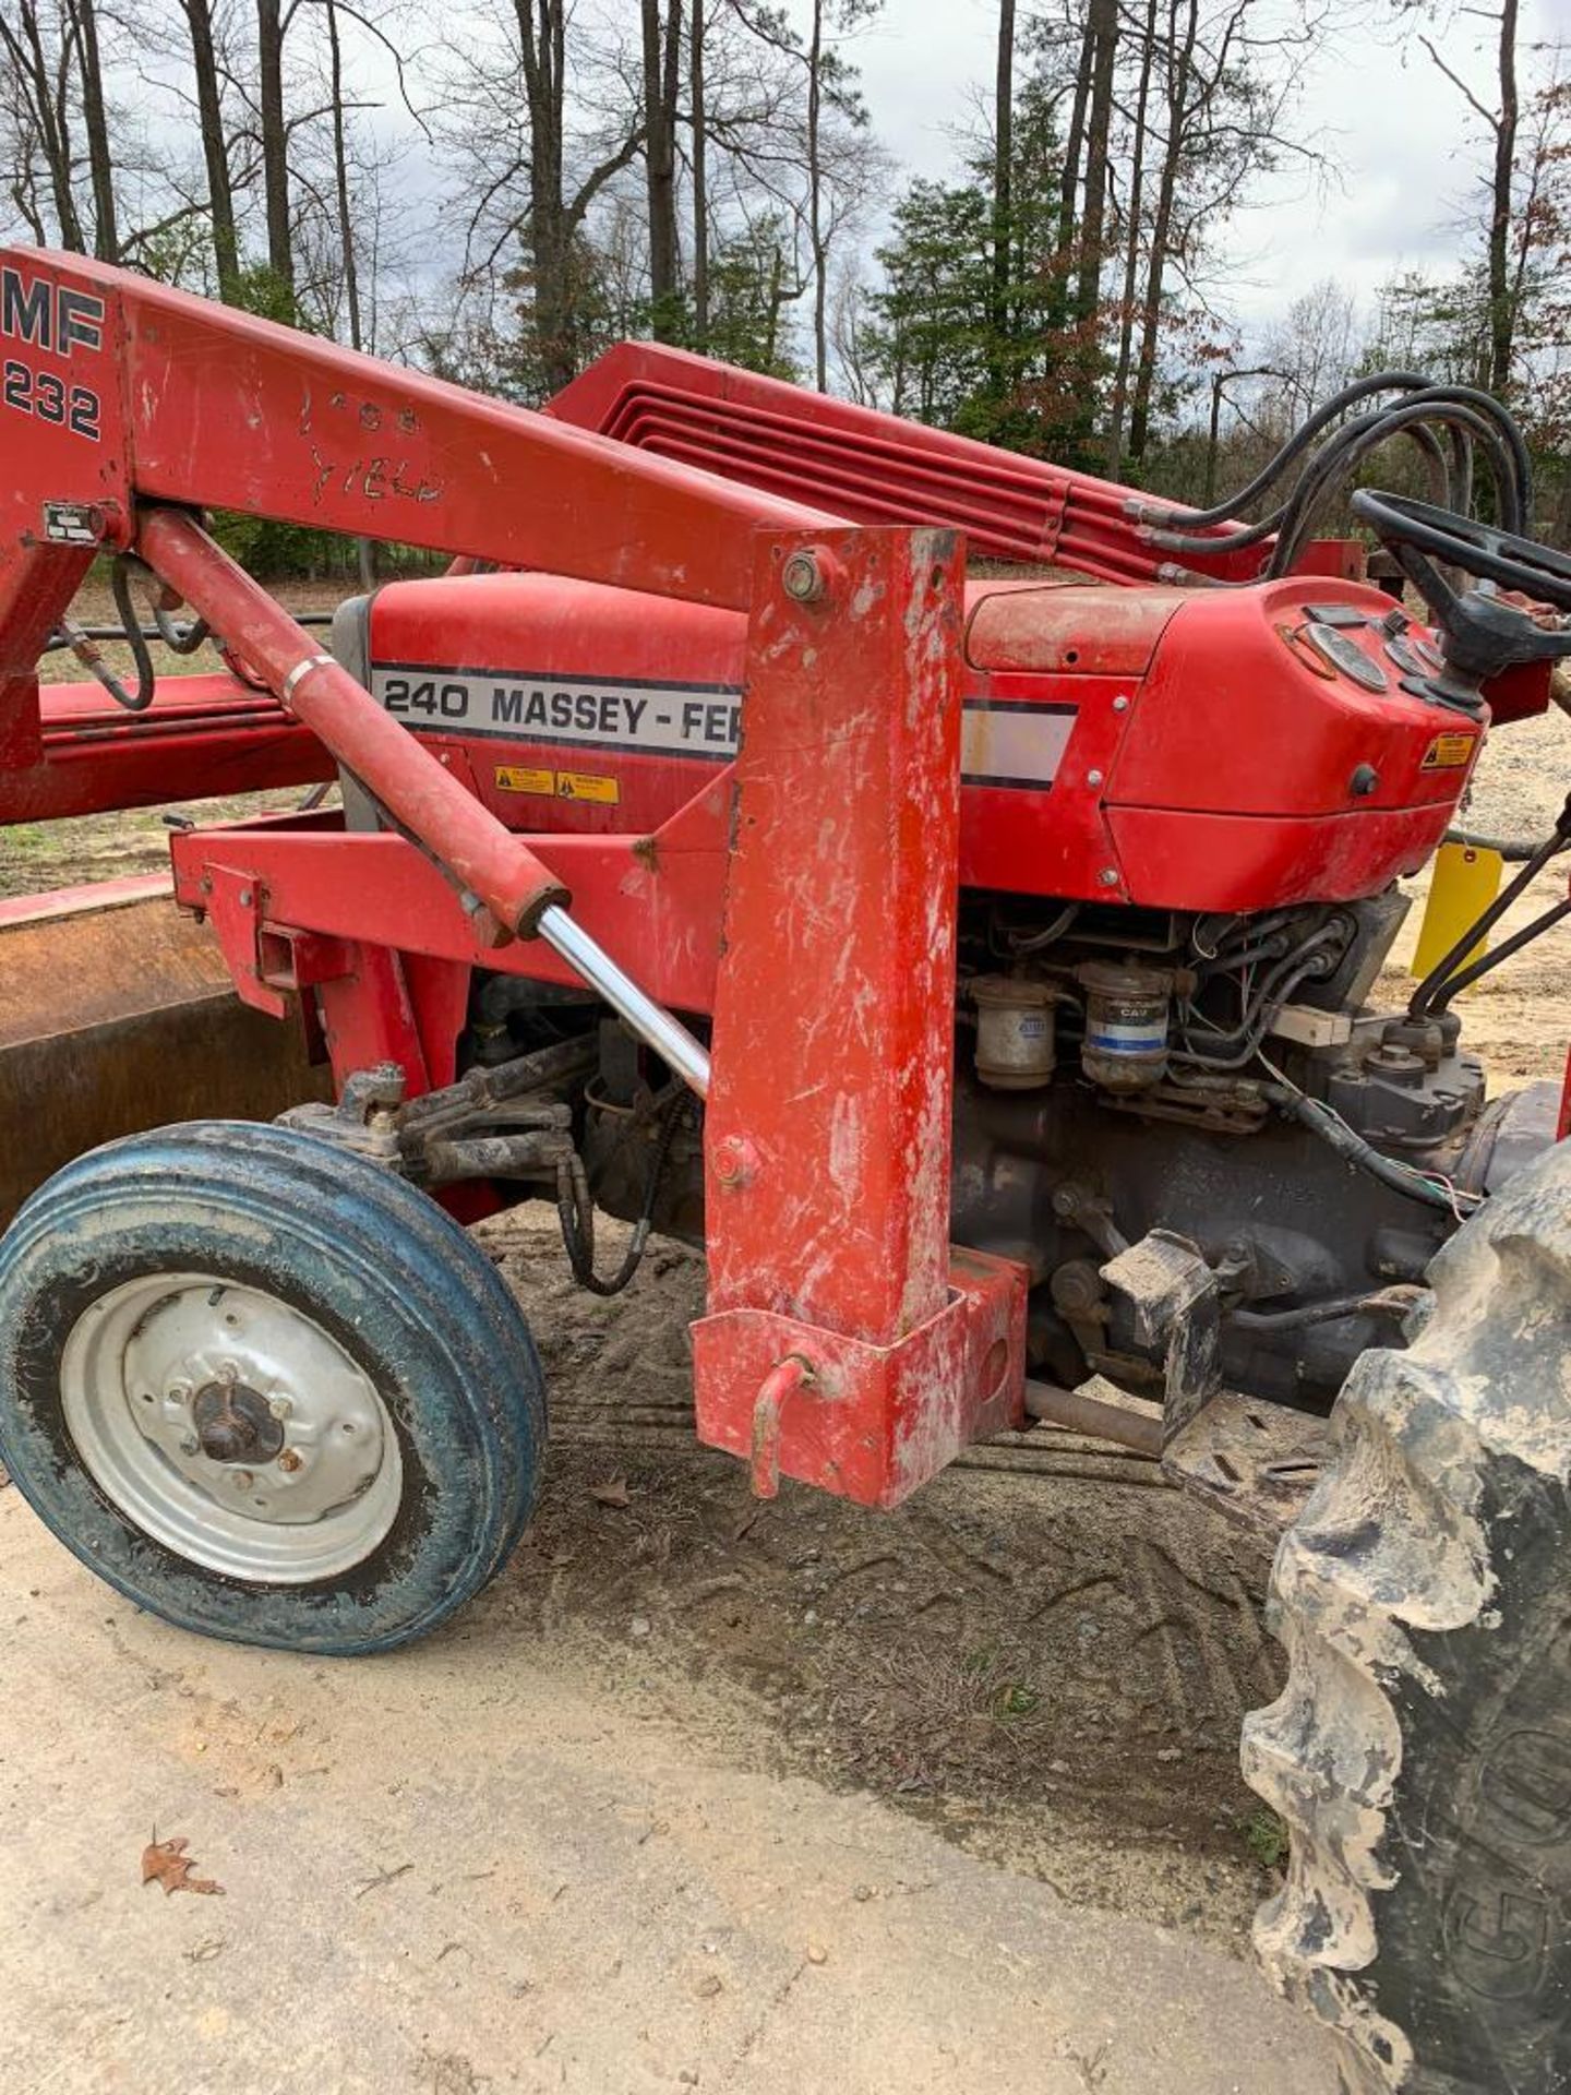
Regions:
[[[226, 1399], [260, 1439], [218, 1460], [201, 1433], [212, 1446]], [[402, 1458], [375, 1385], [262, 1288], [214, 1274], [111, 1288], [65, 1341], [61, 1406], [111, 1504], [205, 1571], [264, 1586], [335, 1578], [398, 1517]]]

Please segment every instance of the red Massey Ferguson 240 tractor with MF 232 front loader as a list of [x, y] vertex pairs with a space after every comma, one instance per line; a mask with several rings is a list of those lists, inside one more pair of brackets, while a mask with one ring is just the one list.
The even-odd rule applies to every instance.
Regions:
[[[1571, 654], [1510, 417], [1385, 373], [1194, 513], [672, 350], [526, 413], [42, 251], [0, 362], [0, 821], [341, 788], [176, 817], [172, 899], [0, 911], [0, 1184], [52, 1171], [0, 1460], [48, 1527], [186, 1630], [421, 1636], [545, 1456], [461, 1223], [553, 1200], [601, 1295], [668, 1232], [760, 1494], [892, 1508], [1047, 1420], [1282, 1529], [1267, 1971], [1359, 2095], [1571, 2087], [1567, 1110], [1487, 1098], [1456, 1014], [1571, 909], [1479, 953], [1571, 813], [1370, 1004]], [[1397, 438], [1433, 499], [1351, 497], [1393, 595], [1311, 528]], [[312, 633], [207, 509], [450, 568]]]

